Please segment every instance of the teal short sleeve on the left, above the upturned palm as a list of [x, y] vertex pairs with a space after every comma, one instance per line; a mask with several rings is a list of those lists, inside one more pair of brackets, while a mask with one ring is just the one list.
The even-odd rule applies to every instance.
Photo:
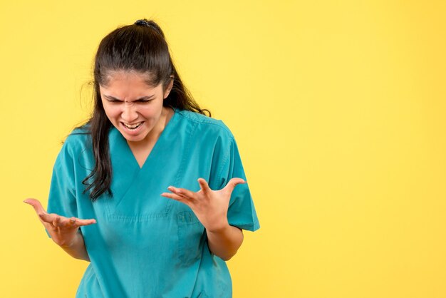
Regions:
[[78, 217], [73, 156], [66, 141], [56, 158], [48, 197], [48, 213]]

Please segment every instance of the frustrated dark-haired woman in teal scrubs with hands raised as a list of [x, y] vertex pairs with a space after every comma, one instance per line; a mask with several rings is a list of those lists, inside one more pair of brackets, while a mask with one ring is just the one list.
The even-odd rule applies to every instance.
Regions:
[[[199, 108], [153, 21], [112, 31], [95, 106], [53, 168], [48, 235], [90, 262], [76, 297], [232, 297], [224, 261], [259, 222], [234, 136]], [[210, 113], [209, 113], [210, 115]]]

